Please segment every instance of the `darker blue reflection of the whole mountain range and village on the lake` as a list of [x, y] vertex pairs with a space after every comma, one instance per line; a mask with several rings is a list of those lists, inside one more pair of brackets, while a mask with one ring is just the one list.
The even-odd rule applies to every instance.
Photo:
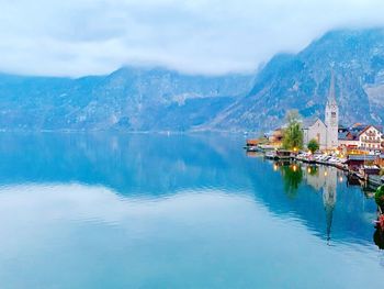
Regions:
[[227, 135], [0, 134], [0, 185], [83, 182], [127, 198], [181, 190], [248, 192], [320, 236], [372, 241], [374, 201], [347, 187], [336, 169], [297, 167], [300, 173], [287, 171], [293, 178], [282, 181], [272, 163], [247, 158], [242, 143]]

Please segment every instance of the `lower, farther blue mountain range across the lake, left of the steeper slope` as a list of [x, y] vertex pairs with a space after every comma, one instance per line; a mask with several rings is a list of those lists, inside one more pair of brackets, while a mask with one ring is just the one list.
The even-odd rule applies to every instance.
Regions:
[[0, 130], [187, 131], [245, 96], [252, 79], [136, 67], [79, 79], [0, 75]]

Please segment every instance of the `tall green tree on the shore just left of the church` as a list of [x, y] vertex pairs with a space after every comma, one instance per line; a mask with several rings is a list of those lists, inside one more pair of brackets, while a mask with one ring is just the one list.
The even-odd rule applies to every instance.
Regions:
[[283, 147], [286, 149], [300, 149], [303, 147], [303, 130], [301, 115], [297, 110], [291, 110], [286, 113], [286, 129], [283, 132]]

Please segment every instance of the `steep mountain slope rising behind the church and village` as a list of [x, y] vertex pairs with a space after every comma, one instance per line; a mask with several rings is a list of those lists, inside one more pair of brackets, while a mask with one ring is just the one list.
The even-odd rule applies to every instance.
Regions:
[[338, 30], [298, 54], [274, 56], [257, 75], [250, 92], [224, 109], [207, 127], [268, 131], [290, 109], [324, 119], [331, 70], [340, 122], [383, 124], [384, 30]]

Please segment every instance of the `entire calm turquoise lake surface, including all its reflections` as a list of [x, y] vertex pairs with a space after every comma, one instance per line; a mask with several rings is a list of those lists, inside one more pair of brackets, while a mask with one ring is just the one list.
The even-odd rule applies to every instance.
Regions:
[[0, 134], [0, 288], [379, 288], [374, 201], [242, 144]]

